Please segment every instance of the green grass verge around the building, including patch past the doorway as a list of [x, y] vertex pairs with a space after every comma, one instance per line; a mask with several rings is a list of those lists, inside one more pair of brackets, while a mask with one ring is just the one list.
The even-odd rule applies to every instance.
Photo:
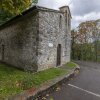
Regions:
[[[67, 63], [65, 66], [69, 66], [70, 69], [74, 68], [73, 63]], [[0, 100], [31, 87], [39, 87], [44, 82], [67, 73], [69, 70], [51, 68], [33, 74], [0, 64]]]

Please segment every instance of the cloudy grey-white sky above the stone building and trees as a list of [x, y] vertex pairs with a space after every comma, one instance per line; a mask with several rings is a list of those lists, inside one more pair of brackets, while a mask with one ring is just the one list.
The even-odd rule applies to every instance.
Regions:
[[100, 0], [39, 0], [38, 5], [53, 9], [69, 5], [72, 14], [72, 28], [86, 20], [100, 19]]

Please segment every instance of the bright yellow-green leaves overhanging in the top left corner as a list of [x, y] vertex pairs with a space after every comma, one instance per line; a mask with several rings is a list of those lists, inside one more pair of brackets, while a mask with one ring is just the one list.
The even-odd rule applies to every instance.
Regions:
[[0, 0], [0, 10], [8, 11], [11, 14], [19, 14], [28, 8], [32, 2], [37, 0]]

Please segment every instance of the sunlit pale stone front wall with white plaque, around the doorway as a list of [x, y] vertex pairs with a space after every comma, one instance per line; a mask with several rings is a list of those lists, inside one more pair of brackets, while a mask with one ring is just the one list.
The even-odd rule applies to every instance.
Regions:
[[56, 67], [57, 46], [61, 44], [61, 65], [70, 61], [70, 34], [61, 12], [39, 11], [38, 70]]

